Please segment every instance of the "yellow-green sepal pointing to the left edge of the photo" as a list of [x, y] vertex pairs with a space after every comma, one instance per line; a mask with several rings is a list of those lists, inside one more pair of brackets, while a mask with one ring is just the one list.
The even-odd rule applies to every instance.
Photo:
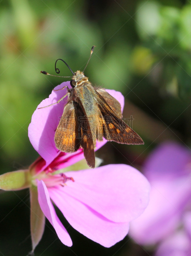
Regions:
[[30, 187], [29, 170], [6, 172], [0, 175], [0, 189], [21, 190]]

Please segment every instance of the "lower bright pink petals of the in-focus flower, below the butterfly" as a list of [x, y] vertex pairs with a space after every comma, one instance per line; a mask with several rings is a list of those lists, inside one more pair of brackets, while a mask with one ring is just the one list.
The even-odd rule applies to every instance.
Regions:
[[67, 180], [62, 187], [62, 176], [54, 175], [57, 184], [46, 177], [37, 186], [40, 208], [59, 239], [68, 246], [72, 245], [70, 236], [55, 215], [50, 198], [73, 228], [105, 247], [122, 240], [128, 233], [129, 221], [138, 217], [148, 204], [147, 180], [128, 165], [65, 172], [66, 177], [72, 177], [74, 182]]

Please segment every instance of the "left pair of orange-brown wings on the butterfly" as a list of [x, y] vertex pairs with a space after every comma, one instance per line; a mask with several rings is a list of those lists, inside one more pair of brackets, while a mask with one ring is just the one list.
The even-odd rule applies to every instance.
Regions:
[[74, 99], [64, 107], [55, 132], [55, 145], [62, 152], [68, 153], [75, 152], [80, 147], [83, 148], [87, 164], [94, 168], [95, 153], [89, 117], [87, 117], [80, 98], [75, 97]]

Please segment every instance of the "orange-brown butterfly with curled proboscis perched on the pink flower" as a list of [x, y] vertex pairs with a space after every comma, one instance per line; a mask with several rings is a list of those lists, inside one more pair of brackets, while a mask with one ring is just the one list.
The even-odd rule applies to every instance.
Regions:
[[[92, 46], [90, 57], [93, 50], [94, 46]], [[102, 141], [104, 137], [106, 140], [122, 144], [144, 144], [140, 136], [121, 119], [120, 103], [104, 89], [94, 88], [88, 81], [88, 77], [84, 75], [84, 71], [77, 70], [73, 73], [68, 64], [62, 61], [73, 76], [70, 81], [72, 88], [64, 86], [62, 89], [67, 88], [66, 95], [54, 103], [59, 103], [68, 96], [68, 102], [55, 131], [56, 148], [68, 153], [83, 148], [87, 164], [94, 168], [96, 140]], [[56, 62], [55, 71], [59, 74], [60, 70], [56, 68]], [[46, 71], [41, 73], [50, 75]]]

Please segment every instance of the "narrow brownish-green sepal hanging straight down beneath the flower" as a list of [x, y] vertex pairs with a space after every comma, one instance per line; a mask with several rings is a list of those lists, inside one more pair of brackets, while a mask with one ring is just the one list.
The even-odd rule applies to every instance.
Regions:
[[[37, 187], [30, 188], [30, 201], [31, 201], [31, 239], [33, 251], [39, 244], [45, 227], [45, 215], [42, 212], [39, 201]], [[32, 251], [32, 252], [33, 252]]]

